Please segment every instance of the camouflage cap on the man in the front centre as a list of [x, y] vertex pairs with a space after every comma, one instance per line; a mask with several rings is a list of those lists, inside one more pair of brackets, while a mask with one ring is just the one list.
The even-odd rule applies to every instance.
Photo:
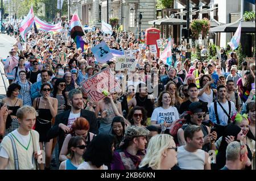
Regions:
[[133, 138], [140, 136], [148, 136], [148, 134], [150, 134], [150, 131], [146, 128], [130, 126], [126, 129], [125, 140], [132, 140]]

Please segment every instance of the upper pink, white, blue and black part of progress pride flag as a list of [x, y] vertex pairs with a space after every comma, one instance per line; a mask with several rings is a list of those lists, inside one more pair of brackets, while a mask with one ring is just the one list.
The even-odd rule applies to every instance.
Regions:
[[70, 30], [70, 36], [74, 40], [76, 36], [85, 35], [79, 16], [76, 14], [76, 12], [73, 14], [72, 19], [70, 21], [69, 30]]

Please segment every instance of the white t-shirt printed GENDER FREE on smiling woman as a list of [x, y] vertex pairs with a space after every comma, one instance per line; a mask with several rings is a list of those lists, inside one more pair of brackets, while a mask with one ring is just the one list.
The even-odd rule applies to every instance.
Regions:
[[[161, 119], [169, 124], [179, 119], [179, 112], [177, 112], [177, 108], [173, 106], [170, 106], [168, 109], [164, 109], [162, 107], [155, 108], [151, 116], [151, 121], [157, 121], [156, 124], [160, 124]], [[168, 129], [170, 129], [170, 127]]]

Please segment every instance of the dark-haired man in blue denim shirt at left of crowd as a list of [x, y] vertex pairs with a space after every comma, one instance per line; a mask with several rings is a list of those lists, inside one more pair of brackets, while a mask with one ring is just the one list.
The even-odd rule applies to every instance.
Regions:
[[47, 70], [42, 70], [41, 71], [41, 78], [42, 78], [42, 81], [35, 82], [31, 86], [31, 98], [33, 100], [35, 98], [40, 98], [40, 96], [41, 96], [40, 89], [41, 89], [41, 86], [43, 85], [43, 83], [51, 84], [50, 82], [48, 82], [49, 81], [49, 73], [48, 73]]

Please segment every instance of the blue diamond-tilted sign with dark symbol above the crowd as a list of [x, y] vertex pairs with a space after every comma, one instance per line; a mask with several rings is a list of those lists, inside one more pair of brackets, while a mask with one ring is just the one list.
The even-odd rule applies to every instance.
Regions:
[[96, 60], [101, 63], [104, 63], [113, 58], [113, 54], [110, 52], [110, 49], [105, 41], [101, 41], [100, 44], [93, 47], [92, 52]]

